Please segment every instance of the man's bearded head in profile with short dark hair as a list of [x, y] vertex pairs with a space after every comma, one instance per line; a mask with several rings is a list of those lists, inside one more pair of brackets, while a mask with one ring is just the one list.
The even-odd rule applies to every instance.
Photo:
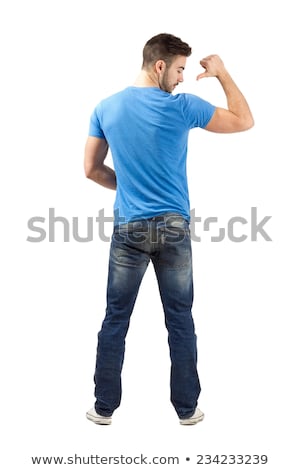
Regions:
[[158, 86], [171, 93], [183, 81], [190, 46], [172, 34], [158, 34], [149, 39], [143, 49], [143, 70], [155, 75]]

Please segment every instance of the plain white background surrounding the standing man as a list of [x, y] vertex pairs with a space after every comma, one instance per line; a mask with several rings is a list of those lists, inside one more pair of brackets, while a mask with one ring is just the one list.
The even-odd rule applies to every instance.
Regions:
[[[267, 454], [297, 467], [299, 435], [299, 65], [296, 2], [3, 1], [1, 44], [1, 467], [31, 456]], [[94, 402], [97, 332], [109, 243], [30, 243], [27, 222], [49, 208], [81, 235], [112, 214], [114, 193], [84, 177], [90, 114], [132, 84], [144, 43], [160, 32], [193, 48], [178, 91], [226, 104], [215, 79], [195, 81], [218, 53], [256, 125], [220, 136], [192, 131], [191, 207], [219, 226], [271, 215], [272, 237], [195, 242], [194, 319], [203, 423], [183, 427], [169, 402], [169, 356], [152, 268], [132, 317], [123, 400], [113, 425], [85, 418]], [[111, 226], [106, 225], [110, 235]], [[249, 226], [236, 228], [249, 235]], [[190, 462], [185, 458], [189, 456]]]

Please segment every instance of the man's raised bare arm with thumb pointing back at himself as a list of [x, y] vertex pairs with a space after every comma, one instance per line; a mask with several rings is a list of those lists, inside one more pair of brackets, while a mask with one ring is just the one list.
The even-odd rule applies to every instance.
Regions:
[[200, 61], [205, 72], [197, 76], [197, 80], [204, 77], [216, 77], [222, 85], [227, 98], [228, 109], [217, 107], [211, 120], [205, 127], [211, 132], [240, 132], [250, 129], [254, 125], [252, 113], [248, 103], [224, 67], [219, 56], [210, 55]]

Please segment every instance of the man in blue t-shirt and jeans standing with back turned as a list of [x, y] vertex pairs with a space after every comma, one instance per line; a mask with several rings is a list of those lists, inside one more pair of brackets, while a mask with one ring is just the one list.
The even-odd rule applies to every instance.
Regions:
[[[216, 77], [227, 109], [186, 93], [191, 48], [170, 34], [151, 38], [134, 86], [99, 103], [85, 148], [86, 176], [116, 189], [106, 316], [98, 335], [95, 406], [87, 418], [110, 424], [121, 401], [125, 337], [138, 289], [153, 263], [164, 308], [171, 358], [171, 402], [181, 424], [204, 417], [197, 408], [200, 383], [192, 317], [193, 275], [186, 178], [189, 130], [239, 132], [253, 126], [249, 106], [217, 55], [200, 61], [197, 79]], [[112, 170], [104, 164], [110, 148]]]

